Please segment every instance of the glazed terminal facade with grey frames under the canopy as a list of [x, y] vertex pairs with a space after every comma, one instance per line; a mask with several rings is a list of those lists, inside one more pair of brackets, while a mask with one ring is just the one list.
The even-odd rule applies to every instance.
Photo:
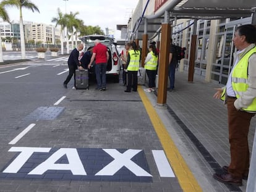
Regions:
[[[189, 54], [190, 54], [190, 39], [193, 32], [194, 25], [191, 25], [194, 20], [187, 20], [183, 26], [188, 27], [186, 29], [185, 46], [186, 57], [184, 59], [184, 70], [189, 70]], [[252, 23], [252, 17], [230, 20], [223, 19], [216, 21], [216, 31], [214, 34], [210, 34], [211, 21], [210, 20], [197, 20], [197, 44], [195, 51], [195, 70], [194, 73], [202, 78], [205, 78], [207, 64], [210, 64], [210, 78], [217, 83], [226, 84], [228, 75], [233, 65], [233, 53], [236, 51], [233, 44], [234, 30], [237, 25], [244, 25]], [[177, 30], [180, 30], [182, 25], [177, 25], [173, 29], [174, 42], [182, 41], [182, 33], [176, 34]], [[211, 32], [213, 33], [213, 32]], [[183, 34], [183, 35], [184, 35]], [[208, 57], [210, 38], [213, 38], [213, 56]], [[208, 60], [211, 60], [209, 62]]]

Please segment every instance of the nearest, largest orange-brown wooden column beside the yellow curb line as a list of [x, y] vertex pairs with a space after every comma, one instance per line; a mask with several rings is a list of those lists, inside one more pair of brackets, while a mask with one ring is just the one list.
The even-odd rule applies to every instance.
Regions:
[[168, 83], [168, 65], [169, 65], [169, 46], [171, 40], [171, 25], [163, 23], [161, 29], [160, 43], [160, 62], [158, 73], [158, 96], [157, 104], [166, 104], [167, 83]]

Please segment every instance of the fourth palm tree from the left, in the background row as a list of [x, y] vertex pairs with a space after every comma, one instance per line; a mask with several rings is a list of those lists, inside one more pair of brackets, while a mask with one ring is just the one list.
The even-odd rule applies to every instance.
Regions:
[[[74, 29], [79, 28], [79, 20], [75, 17], [79, 14], [79, 12], [70, 12], [70, 14], [66, 14], [66, 20], [67, 20], [67, 33], [69, 32], [71, 34], [71, 40], [72, 40], [72, 49], [74, 48]], [[67, 49], [68, 47], [68, 40], [67, 40]], [[69, 50], [67, 50], [69, 51]]]

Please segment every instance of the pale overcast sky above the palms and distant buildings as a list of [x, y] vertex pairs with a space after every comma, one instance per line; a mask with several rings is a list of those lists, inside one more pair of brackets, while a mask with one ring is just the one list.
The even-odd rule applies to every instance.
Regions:
[[[35, 4], [40, 13], [22, 9], [23, 21], [31, 21], [45, 24], [51, 23], [53, 17], [58, 17], [57, 9], [67, 13], [79, 12], [78, 19], [82, 19], [85, 25], [99, 25], [105, 32], [105, 28], [116, 30], [116, 25], [127, 24], [129, 16], [137, 6], [139, 0], [30, 0]], [[11, 20], [19, 20], [19, 9], [8, 7], [7, 12]], [[116, 33], [116, 38], [119, 31]]]

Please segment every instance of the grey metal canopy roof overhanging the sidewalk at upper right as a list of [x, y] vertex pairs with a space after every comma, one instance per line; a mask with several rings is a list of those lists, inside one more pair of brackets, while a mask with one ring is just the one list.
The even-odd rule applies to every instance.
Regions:
[[[165, 8], [170, 13], [170, 19], [239, 19], [241, 17], [250, 17], [255, 13], [255, 0], [170, 0], [165, 2]], [[169, 6], [171, 5], [171, 6]], [[164, 20], [164, 11], [160, 9], [153, 15], [147, 15], [140, 20], [137, 29], [136, 38], [142, 40], [144, 23], [147, 18], [147, 34], [151, 38], [159, 31], [161, 23]], [[139, 22], [138, 20], [138, 22]]]

